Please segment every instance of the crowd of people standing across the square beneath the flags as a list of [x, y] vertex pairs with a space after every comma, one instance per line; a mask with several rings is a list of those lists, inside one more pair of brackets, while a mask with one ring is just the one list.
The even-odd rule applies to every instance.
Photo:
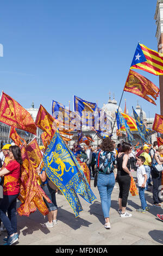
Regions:
[[[43, 155], [45, 147], [41, 146], [40, 150]], [[74, 156], [78, 157], [81, 162], [86, 163], [87, 168], [89, 168], [90, 178], [95, 179], [97, 182], [105, 219], [104, 227], [106, 229], [111, 228], [109, 212], [111, 193], [114, 188], [117, 188], [115, 182], [118, 183], [120, 191], [118, 196], [118, 214], [122, 218], [132, 216], [126, 211], [126, 206], [133, 171], [136, 171], [136, 184], [141, 204], [141, 208], [137, 209], [137, 211], [143, 214], [149, 211], [145, 191], [149, 191], [151, 186], [153, 186], [153, 205], [161, 207], [163, 204], [160, 198], [163, 145], [158, 147], [157, 142], [154, 142], [152, 148], [146, 144], [143, 147], [136, 148], [130, 143], [122, 142], [116, 147], [116, 143], [108, 137], [103, 139], [97, 148], [86, 144], [82, 147], [81, 144], [74, 143], [71, 150]], [[16, 145], [3, 145], [0, 153], [0, 224], [1, 222], [3, 223], [3, 228], [1, 229], [7, 230], [8, 233], [8, 236], [4, 237], [4, 245], [12, 245], [18, 240], [16, 203], [20, 193], [21, 164], [20, 148]], [[158, 167], [160, 171], [157, 172]], [[58, 224], [57, 188], [54, 184], [51, 184], [45, 169], [37, 168], [36, 172], [40, 178], [40, 186], [48, 198], [51, 199], [51, 203], [44, 199], [49, 212], [47, 216], [48, 221], [42, 224], [42, 227], [51, 228]], [[153, 185], [151, 182], [153, 182]], [[3, 188], [3, 191], [1, 188]], [[163, 215], [157, 215], [157, 217], [163, 221]]]

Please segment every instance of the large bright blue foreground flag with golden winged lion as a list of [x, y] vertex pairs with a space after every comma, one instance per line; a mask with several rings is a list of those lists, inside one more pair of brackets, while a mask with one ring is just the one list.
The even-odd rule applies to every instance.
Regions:
[[58, 130], [43, 155], [43, 162], [48, 178], [64, 194], [77, 217], [83, 210], [78, 194], [89, 203], [92, 203], [96, 197], [91, 191], [83, 169]]

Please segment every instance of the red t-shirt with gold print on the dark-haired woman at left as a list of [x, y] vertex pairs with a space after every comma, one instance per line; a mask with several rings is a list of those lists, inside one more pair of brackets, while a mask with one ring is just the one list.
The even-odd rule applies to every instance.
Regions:
[[16, 160], [12, 160], [5, 167], [10, 173], [4, 175], [3, 194], [11, 196], [20, 192], [20, 163]]

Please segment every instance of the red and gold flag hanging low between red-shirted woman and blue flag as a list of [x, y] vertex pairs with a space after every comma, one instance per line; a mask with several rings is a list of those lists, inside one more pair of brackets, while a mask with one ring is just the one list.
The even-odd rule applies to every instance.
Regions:
[[42, 215], [47, 215], [49, 211], [43, 198], [49, 203], [51, 200], [37, 183], [35, 169], [25, 147], [21, 148], [21, 155], [23, 164], [21, 165], [20, 194], [18, 196], [21, 205], [17, 212], [20, 216], [29, 216], [38, 209]]

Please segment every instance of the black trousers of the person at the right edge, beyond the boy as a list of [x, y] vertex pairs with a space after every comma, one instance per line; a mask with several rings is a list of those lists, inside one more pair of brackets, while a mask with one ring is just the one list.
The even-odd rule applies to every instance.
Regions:
[[153, 181], [153, 203], [159, 204], [161, 199], [159, 198], [159, 192], [161, 191], [161, 173], [159, 176], [151, 172], [152, 181]]

